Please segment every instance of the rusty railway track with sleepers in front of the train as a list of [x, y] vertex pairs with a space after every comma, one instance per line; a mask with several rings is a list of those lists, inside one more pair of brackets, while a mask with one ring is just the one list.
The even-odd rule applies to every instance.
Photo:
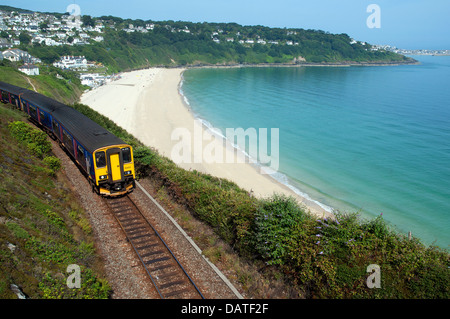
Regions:
[[204, 299], [170, 248], [129, 196], [104, 200], [162, 299]]

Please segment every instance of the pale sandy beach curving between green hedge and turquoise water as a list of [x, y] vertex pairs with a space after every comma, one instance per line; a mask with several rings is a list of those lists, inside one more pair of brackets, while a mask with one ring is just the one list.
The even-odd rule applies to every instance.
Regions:
[[[177, 150], [175, 155], [186, 155], [186, 150], [190, 150], [188, 163], [174, 160], [184, 169], [226, 178], [256, 197], [268, 197], [274, 193], [293, 196], [314, 215], [332, 216], [316, 202], [300, 196], [269, 175], [261, 174], [253, 165], [240, 163], [233, 147], [227, 147], [224, 139], [210, 134], [195, 119], [179, 93], [183, 71], [180, 68], [151, 68], [123, 73], [120, 79], [84, 93], [80, 102], [107, 116], [145, 145], [172, 160], [174, 149]], [[223, 154], [224, 160], [208, 162], [203, 156], [205, 148], [220, 150], [214, 154]]]

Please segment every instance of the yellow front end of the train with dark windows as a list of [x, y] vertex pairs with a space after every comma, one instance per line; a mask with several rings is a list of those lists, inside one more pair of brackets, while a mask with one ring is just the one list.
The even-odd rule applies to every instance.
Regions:
[[122, 144], [94, 152], [96, 192], [104, 196], [122, 195], [135, 188], [133, 149]]

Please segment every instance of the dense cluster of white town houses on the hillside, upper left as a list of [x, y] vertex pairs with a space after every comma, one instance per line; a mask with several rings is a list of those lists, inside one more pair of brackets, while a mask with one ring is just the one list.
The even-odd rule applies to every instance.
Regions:
[[[16, 11], [0, 11], [0, 60], [8, 59], [12, 62], [23, 62], [18, 68], [27, 75], [39, 75], [39, 58], [28, 52], [14, 48], [22, 41], [46, 46], [85, 45], [103, 41], [104, 24], [84, 25], [81, 19], [62, 15], [59, 19], [52, 14], [21, 13]], [[53, 66], [63, 70], [79, 72], [81, 84], [96, 87], [110, 80], [112, 76], [99, 73], [82, 73], [99, 65], [88, 62], [84, 56], [62, 56]]]

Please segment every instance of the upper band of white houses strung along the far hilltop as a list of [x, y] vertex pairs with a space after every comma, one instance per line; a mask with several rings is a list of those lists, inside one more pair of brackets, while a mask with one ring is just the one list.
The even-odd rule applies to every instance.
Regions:
[[[47, 46], [62, 45], [86, 45], [90, 43], [103, 42], [105, 28], [124, 31], [126, 33], [149, 33], [155, 28], [166, 28], [172, 33], [186, 33], [192, 36], [202, 32], [210, 32], [211, 41], [215, 43], [240, 43], [244, 46], [253, 45], [299, 45], [298, 42], [286, 37], [297, 35], [295, 30], [286, 30], [283, 39], [266, 39], [263, 34], [241, 34], [236, 29], [227, 30], [220, 27], [215, 30], [200, 31], [198, 26], [191, 25], [168, 25], [155, 23], [120, 23], [113, 19], [95, 19], [94, 23], [83, 24], [83, 17], [74, 18], [69, 14], [59, 16], [44, 13], [20, 13], [0, 11], [0, 30], [9, 34], [8, 42], [18, 45], [18, 37], [21, 32], [27, 32], [32, 37], [32, 43], [45, 44]], [[5, 44], [0, 43], [0, 46]]]

